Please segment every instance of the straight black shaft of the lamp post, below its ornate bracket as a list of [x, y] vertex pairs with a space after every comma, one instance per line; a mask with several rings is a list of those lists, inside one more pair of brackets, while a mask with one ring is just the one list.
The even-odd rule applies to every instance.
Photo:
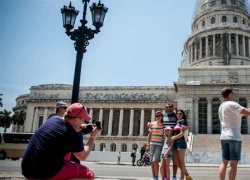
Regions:
[[78, 50], [76, 53], [76, 65], [75, 65], [73, 90], [72, 90], [72, 96], [71, 96], [71, 104], [78, 102], [78, 98], [79, 98], [82, 59], [83, 59], [83, 52], [80, 52]]

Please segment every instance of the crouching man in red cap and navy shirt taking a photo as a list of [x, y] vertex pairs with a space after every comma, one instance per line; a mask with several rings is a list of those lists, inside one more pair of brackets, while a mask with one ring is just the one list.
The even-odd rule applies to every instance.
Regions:
[[71, 152], [79, 160], [89, 156], [97, 134], [102, 131], [95, 127], [84, 144], [79, 132], [82, 124], [90, 119], [86, 107], [80, 103], [70, 105], [63, 118], [48, 119], [30, 139], [22, 159], [22, 174], [27, 179], [94, 179], [89, 168], [65, 158]]

